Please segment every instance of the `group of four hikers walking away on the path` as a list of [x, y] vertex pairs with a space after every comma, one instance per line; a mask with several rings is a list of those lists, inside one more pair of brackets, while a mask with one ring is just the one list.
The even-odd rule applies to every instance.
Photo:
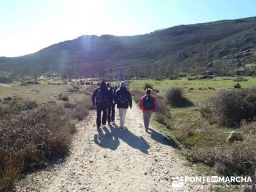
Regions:
[[[152, 90], [147, 89], [139, 102], [139, 107], [143, 111], [145, 131], [148, 131], [150, 116], [157, 111], [156, 98], [151, 93]], [[124, 81], [121, 81], [119, 89], [115, 83], [106, 84], [105, 81], [102, 81], [99, 88], [92, 94], [92, 104], [96, 106], [97, 110], [97, 129], [101, 125], [106, 125], [107, 121], [108, 124], [115, 124], [115, 106], [120, 116], [120, 129], [124, 129], [127, 109], [132, 108], [131, 93], [127, 90]]]

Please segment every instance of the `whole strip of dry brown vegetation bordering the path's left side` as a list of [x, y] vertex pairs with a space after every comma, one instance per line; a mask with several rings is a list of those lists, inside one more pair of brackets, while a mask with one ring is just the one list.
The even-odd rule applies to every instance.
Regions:
[[67, 156], [76, 132], [74, 122], [92, 109], [87, 95], [77, 98], [80, 101], [72, 103], [37, 104], [17, 97], [0, 102], [0, 191], [12, 189], [21, 173]]

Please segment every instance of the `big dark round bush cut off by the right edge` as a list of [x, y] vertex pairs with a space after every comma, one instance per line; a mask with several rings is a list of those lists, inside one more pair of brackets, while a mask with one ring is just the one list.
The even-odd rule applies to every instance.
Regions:
[[222, 125], [240, 124], [256, 117], [256, 89], [222, 90], [212, 99], [212, 112]]

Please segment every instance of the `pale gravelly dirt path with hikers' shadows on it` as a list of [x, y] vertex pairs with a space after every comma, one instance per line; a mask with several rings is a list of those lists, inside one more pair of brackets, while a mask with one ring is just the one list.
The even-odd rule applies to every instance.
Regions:
[[174, 142], [156, 131], [145, 132], [137, 106], [127, 111], [126, 125], [97, 131], [93, 111], [77, 125], [64, 163], [28, 175], [17, 191], [205, 191], [187, 184], [172, 188], [172, 177], [193, 171], [175, 152]]

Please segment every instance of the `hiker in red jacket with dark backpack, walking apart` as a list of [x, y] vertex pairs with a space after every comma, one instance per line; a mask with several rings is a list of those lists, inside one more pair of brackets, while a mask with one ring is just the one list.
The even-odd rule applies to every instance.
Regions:
[[157, 111], [158, 108], [156, 98], [151, 95], [151, 92], [151, 89], [147, 89], [146, 95], [141, 97], [139, 102], [139, 107], [143, 111], [143, 120], [146, 132], [148, 131], [150, 116], [153, 112]]

